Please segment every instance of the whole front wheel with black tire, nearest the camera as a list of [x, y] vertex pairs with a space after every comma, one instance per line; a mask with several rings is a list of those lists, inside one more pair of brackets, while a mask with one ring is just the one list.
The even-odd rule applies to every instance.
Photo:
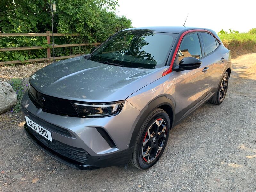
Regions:
[[[165, 126], [165, 129], [164, 129], [164, 126]], [[157, 130], [154, 136], [153, 136], [154, 132], [152, 132], [152, 134], [149, 134], [150, 130], [152, 131], [153, 129]], [[161, 133], [159, 132], [159, 130]], [[170, 132], [170, 118], [168, 114], [164, 110], [160, 108], [156, 108], [154, 111], [152, 111], [148, 115], [148, 117], [145, 119], [145, 121], [143, 122], [139, 130], [139, 133], [133, 148], [132, 159], [130, 161], [130, 164], [132, 164], [134, 167], [138, 169], [148, 169], [152, 167], [154, 164], [156, 164], [156, 162], [159, 160], [159, 158], [162, 156], [164, 152], [165, 146], [168, 142], [169, 132]], [[165, 134], [165, 137], [164, 137], [164, 134]], [[147, 138], [148, 141], [146, 141], [147, 143], [144, 142], [146, 140], [146, 137], [148, 137]], [[149, 147], [149, 143], [151, 143], [151, 148], [152, 148], [150, 150], [151, 152], [148, 151], [148, 147], [145, 146], [146, 145], [145, 143], [148, 145], [148, 147]], [[144, 147], [147, 147], [147, 150], [145, 153], [149, 155], [146, 157], [144, 156], [143, 158], [142, 153], [143, 153]], [[151, 153], [153, 155], [150, 158]], [[154, 154], [156, 154], [155, 157], [154, 157]], [[146, 158], [148, 159], [148, 162], [146, 162], [147, 161]], [[150, 160], [152, 158], [153, 160]]]

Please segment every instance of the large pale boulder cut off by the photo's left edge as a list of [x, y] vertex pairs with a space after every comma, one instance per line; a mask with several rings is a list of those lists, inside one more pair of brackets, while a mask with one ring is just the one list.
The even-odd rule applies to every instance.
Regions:
[[0, 80], [0, 113], [8, 111], [17, 102], [17, 94], [12, 86]]

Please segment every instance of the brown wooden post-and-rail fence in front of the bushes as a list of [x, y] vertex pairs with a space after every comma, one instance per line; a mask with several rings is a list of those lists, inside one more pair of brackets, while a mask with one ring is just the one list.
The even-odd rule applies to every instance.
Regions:
[[[10, 36], [46, 36], [47, 43], [50, 44], [50, 37], [52, 36], [52, 33], [50, 33], [50, 31], [46, 31], [46, 33], [0, 33], [0, 37], [10, 37]], [[53, 36], [79, 36], [79, 34], [53, 33]], [[101, 43], [61, 44], [61, 45], [54, 45], [54, 48], [90, 46], [90, 45], [97, 46], [97, 45], [100, 45], [100, 44]], [[20, 60], [3, 61], [3, 62], [0, 62], [0, 65], [53, 60], [53, 57], [51, 57], [51, 51], [50, 51], [50, 49], [53, 47], [53, 45], [49, 45], [49, 46], [50, 47], [46, 47], [46, 48], [42, 47], [42, 46], [0, 48], [0, 51], [21, 51], [21, 50], [33, 50], [33, 49], [47, 49], [47, 58], [29, 59], [29, 60], [25, 60], [25, 61], [20, 61]], [[80, 55], [81, 54], [61, 56], [61, 57], [55, 57], [55, 59], [56, 60], [58, 60], [58, 59], [67, 59], [67, 58], [72, 58], [72, 57], [76, 57], [76, 56], [80, 56]]]

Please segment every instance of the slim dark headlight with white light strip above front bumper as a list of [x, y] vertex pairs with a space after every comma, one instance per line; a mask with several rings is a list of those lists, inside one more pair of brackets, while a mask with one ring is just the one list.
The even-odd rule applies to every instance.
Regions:
[[72, 102], [78, 113], [78, 117], [101, 117], [111, 116], [121, 111], [124, 101], [112, 103], [80, 103]]

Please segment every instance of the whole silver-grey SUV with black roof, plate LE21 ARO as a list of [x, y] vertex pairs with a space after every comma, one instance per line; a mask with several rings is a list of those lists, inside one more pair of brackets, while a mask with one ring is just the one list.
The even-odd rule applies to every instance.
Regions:
[[122, 30], [89, 55], [33, 74], [22, 99], [25, 132], [76, 169], [154, 165], [170, 129], [225, 98], [230, 50], [215, 32], [188, 27]]

